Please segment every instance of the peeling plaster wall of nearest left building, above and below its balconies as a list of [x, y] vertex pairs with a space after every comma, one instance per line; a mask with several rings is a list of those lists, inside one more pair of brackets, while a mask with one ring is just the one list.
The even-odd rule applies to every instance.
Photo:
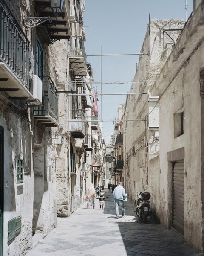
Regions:
[[[19, 25], [29, 13], [34, 16], [29, 0], [8, 0], [6, 4]], [[37, 29], [22, 29], [35, 52]], [[44, 74], [48, 75], [48, 45], [39, 41], [44, 50]], [[55, 152], [52, 140], [55, 128], [45, 128], [35, 122], [33, 108], [24, 108], [25, 103], [18, 100], [12, 101], [13, 105], [7, 100], [6, 93], [0, 93], [0, 100], [0, 125], [4, 128], [3, 255], [21, 256], [31, 249], [33, 233], [46, 236], [56, 226]], [[43, 154], [38, 155], [38, 147]], [[24, 172], [23, 184], [18, 185], [16, 158], [23, 160]], [[20, 234], [8, 242], [8, 221], [18, 216], [22, 218]]]

